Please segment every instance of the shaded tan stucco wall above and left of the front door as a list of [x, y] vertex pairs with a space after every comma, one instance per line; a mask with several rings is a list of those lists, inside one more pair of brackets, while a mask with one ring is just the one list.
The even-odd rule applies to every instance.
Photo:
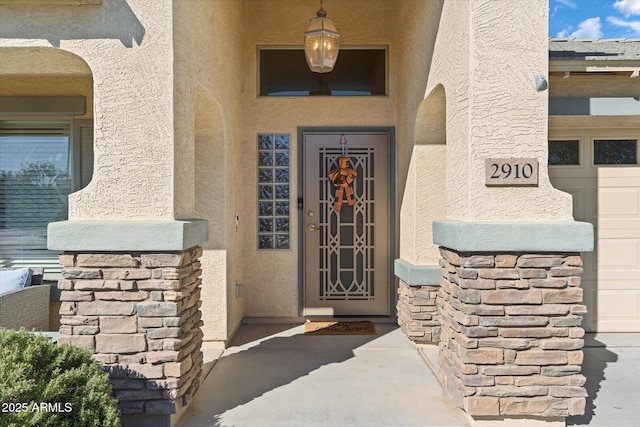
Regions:
[[[410, 2], [412, 3], [412, 2]], [[394, 126], [398, 99], [397, 45], [400, 26], [395, 2], [327, 0], [324, 9], [345, 45], [389, 45], [389, 97], [257, 98], [256, 46], [302, 47], [309, 20], [319, 3], [299, 0], [247, 0], [244, 34], [244, 258], [248, 316], [298, 315], [298, 127]], [[338, 57], [338, 61], [339, 61]], [[256, 231], [256, 134], [291, 135], [291, 250], [258, 251]], [[337, 141], [336, 141], [337, 143]], [[404, 186], [404, 185], [403, 185]], [[402, 187], [403, 187], [402, 186]], [[402, 188], [400, 187], [400, 188]]]

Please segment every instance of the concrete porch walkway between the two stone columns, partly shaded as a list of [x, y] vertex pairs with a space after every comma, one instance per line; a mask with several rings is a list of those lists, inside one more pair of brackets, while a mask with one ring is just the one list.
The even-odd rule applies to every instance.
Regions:
[[301, 324], [245, 324], [181, 427], [468, 426], [400, 329], [304, 335]]

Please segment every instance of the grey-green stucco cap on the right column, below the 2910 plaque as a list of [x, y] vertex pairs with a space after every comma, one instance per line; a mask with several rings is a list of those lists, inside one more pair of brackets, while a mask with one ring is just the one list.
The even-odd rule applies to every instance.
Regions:
[[590, 252], [593, 224], [442, 220], [433, 222], [433, 242], [466, 252]]

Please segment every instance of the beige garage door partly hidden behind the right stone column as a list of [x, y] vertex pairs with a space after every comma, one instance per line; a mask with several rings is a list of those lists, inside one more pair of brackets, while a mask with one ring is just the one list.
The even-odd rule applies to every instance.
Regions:
[[551, 130], [549, 176], [591, 222], [583, 253], [587, 331], [640, 332], [640, 129]]

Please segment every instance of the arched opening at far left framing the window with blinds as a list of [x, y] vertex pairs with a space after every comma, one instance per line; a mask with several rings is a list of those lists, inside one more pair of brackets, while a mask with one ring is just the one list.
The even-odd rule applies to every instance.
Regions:
[[[0, 48], [0, 268], [60, 277], [47, 225], [69, 215], [69, 194], [93, 176], [93, 73], [56, 48]], [[57, 330], [56, 292], [48, 325]]]

